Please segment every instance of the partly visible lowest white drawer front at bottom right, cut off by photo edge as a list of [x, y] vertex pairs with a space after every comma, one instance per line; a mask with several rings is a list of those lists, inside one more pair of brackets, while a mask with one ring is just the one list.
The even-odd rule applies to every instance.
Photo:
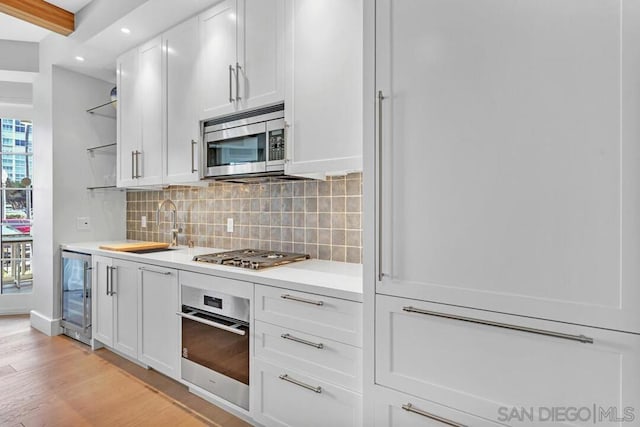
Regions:
[[[375, 427], [496, 427], [494, 423], [415, 396], [375, 386]], [[447, 424], [450, 423], [450, 424]]]

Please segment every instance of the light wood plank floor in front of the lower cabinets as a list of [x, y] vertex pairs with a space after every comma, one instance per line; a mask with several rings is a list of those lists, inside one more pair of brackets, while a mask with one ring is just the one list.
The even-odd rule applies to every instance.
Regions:
[[249, 424], [108, 350], [0, 316], [0, 426]]

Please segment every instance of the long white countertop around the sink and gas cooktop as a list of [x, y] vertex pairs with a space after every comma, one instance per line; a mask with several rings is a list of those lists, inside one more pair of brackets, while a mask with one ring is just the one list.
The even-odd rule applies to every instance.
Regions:
[[223, 252], [228, 249], [178, 246], [169, 251], [148, 254], [100, 249], [101, 245], [126, 242], [135, 242], [135, 240], [64, 243], [60, 247], [75, 252], [104, 255], [111, 258], [149, 263], [178, 270], [188, 270], [362, 302], [361, 264], [310, 259], [254, 271], [192, 261], [194, 255]]

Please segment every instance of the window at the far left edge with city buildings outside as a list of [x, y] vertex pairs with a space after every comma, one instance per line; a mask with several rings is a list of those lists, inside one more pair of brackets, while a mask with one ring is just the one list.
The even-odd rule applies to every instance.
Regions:
[[31, 272], [33, 128], [31, 123], [20, 120], [0, 118], [0, 122], [2, 122], [0, 126], [2, 133], [0, 294], [29, 293], [33, 285]]

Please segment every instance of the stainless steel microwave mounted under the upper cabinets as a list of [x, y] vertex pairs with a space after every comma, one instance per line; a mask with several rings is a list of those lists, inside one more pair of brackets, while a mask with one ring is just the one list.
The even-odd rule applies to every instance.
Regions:
[[203, 126], [204, 178], [284, 174], [284, 105], [209, 120]]

